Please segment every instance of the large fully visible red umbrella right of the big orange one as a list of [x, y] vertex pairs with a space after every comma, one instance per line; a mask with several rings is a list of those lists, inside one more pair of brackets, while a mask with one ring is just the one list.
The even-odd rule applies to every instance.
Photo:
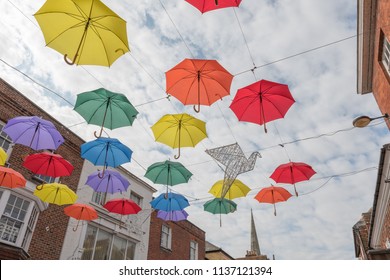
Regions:
[[287, 85], [261, 80], [237, 90], [230, 109], [240, 121], [264, 124], [267, 132], [266, 123], [284, 118], [294, 102]]

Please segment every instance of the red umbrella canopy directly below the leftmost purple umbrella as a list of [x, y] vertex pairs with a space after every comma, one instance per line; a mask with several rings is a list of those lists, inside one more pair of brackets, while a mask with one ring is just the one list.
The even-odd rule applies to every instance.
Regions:
[[73, 165], [59, 154], [36, 153], [28, 155], [23, 166], [34, 174], [50, 177], [70, 176], [73, 172]]

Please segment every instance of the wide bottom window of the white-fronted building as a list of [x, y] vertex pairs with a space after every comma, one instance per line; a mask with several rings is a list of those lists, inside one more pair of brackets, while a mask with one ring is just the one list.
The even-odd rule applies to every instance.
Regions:
[[136, 244], [98, 227], [88, 225], [82, 260], [134, 260]]

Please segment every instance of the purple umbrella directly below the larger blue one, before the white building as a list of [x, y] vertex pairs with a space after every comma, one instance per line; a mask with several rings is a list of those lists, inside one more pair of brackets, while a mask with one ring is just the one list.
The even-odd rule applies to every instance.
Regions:
[[130, 182], [119, 172], [106, 170], [103, 178], [100, 178], [99, 171], [88, 176], [86, 185], [90, 186], [96, 192], [116, 193], [127, 191]]

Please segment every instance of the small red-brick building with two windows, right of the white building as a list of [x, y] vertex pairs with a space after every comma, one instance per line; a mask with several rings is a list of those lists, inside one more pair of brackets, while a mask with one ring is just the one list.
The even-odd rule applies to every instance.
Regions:
[[148, 260], [204, 260], [205, 243], [205, 232], [190, 221], [164, 221], [152, 212]]

